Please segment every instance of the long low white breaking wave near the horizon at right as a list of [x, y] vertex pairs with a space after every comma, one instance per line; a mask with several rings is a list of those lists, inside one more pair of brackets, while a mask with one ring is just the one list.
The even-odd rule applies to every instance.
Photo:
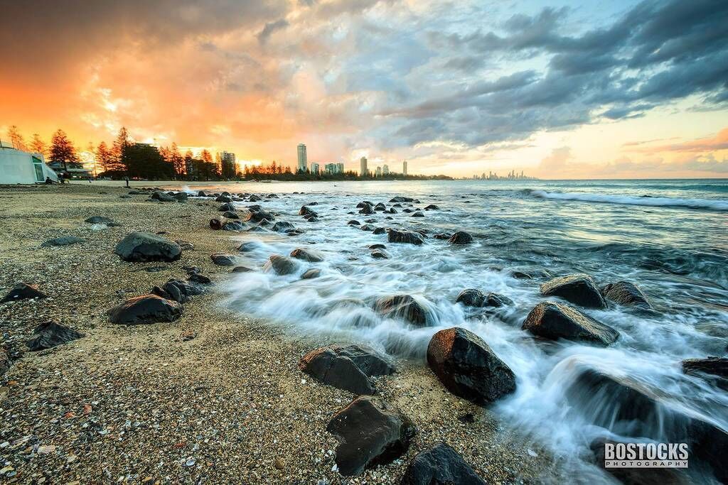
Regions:
[[531, 196], [561, 201], [599, 202], [603, 204], [625, 204], [649, 207], [688, 207], [728, 211], [728, 201], [710, 199], [678, 199], [673, 197], [634, 197], [606, 193], [528, 191]]

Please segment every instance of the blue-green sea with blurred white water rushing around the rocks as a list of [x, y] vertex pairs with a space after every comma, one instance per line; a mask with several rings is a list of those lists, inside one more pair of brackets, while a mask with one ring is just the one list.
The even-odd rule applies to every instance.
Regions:
[[[451, 326], [470, 329], [516, 376], [515, 393], [494, 403], [494, 412], [582, 474], [601, 476], [589, 464], [590, 443], [605, 430], [620, 436], [604, 419], [620, 412], [612, 396], [581, 401], [569, 396], [583, 369], [626, 379], [665, 406], [728, 430], [728, 393], [681, 371], [685, 358], [727, 353], [728, 180], [237, 183], [215, 189], [276, 193], [279, 198], [257, 204], [305, 231], [232, 235], [241, 243], [253, 241], [253, 250], [240, 257], [242, 265], [256, 269], [228, 284], [224, 305], [234, 311], [263, 318], [283, 332], [362, 342], [423, 366], [432, 334]], [[439, 209], [411, 217], [401, 209], [395, 215], [360, 215], [355, 208], [360, 201], [390, 207], [393, 196]], [[308, 223], [298, 210], [314, 202], [309, 207], [320, 220]], [[428, 237], [422, 246], [389, 244], [387, 234], [347, 225], [370, 219], [375, 227], [430, 236], [467, 231], [475, 242], [454, 246]], [[371, 257], [368, 246], [376, 243], [387, 246], [389, 259]], [[288, 255], [296, 247], [316, 249], [324, 261], [298, 262], [289, 276], [260, 270], [271, 254]], [[301, 279], [313, 266], [321, 276]], [[515, 272], [534, 277], [516, 278]], [[632, 281], [656, 311], [618, 305], [579, 309], [620, 332], [607, 348], [539, 342], [521, 330], [531, 308], [547, 300], [539, 284], [571, 273], [587, 273], [599, 286]], [[467, 288], [505, 295], [513, 305], [473, 314], [455, 303]], [[430, 314], [427, 326], [375, 313], [371, 302], [390, 294], [418, 300]], [[655, 425], [650, 437], [667, 436], [665, 427], [669, 423]]]

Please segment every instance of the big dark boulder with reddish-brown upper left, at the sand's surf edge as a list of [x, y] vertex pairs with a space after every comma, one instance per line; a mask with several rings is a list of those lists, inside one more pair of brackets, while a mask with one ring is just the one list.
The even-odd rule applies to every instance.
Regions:
[[515, 390], [510, 367], [478, 335], [457, 326], [432, 336], [427, 364], [451, 393], [476, 404], [496, 401]]

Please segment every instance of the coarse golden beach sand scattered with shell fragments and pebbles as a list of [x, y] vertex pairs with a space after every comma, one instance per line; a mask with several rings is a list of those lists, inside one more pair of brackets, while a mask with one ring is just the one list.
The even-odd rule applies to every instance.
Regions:
[[[218, 203], [122, 199], [128, 189], [113, 185], [0, 187], [1, 292], [25, 281], [48, 294], [0, 305], [0, 346], [11, 360], [0, 377], [4, 483], [389, 484], [440, 442], [488, 483], [558, 481], [558, 465], [538, 444], [448, 393], [422, 361], [403, 360], [376, 384], [414, 422], [412, 446], [389, 465], [341, 476], [326, 426], [355, 396], [298, 370], [301, 356], [332, 342], [293, 337], [220, 305], [230, 268], [210, 254], [235, 252], [242, 239], [210, 230]], [[120, 225], [94, 231], [84, 220], [95, 215]], [[163, 231], [194, 247], [175, 262], [124, 262], [114, 246], [132, 231]], [[59, 236], [86, 241], [41, 247]], [[185, 266], [214, 285], [186, 302], [180, 319], [109, 322], [106, 310], [185, 277]], [[84, 337], [29, 351], [25, 341], [49, 320]]]

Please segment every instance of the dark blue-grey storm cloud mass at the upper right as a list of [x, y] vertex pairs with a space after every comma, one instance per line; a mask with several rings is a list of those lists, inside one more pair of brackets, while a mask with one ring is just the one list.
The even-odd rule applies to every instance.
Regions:
[[[703, 95], [708, 104], [728, 100], [728, 1], [643, 1], [612, 25], [579, 35], [564, 33], [569, 15], [568, 9], [546, 8], [534, 16], [513, 15], [499, 32], [428, 32], [432, 47], [456, 53], [445, 64], [452, 71], [475, 74], [486, 63], [531, 58], [546, 67], [454, 85], [446, 96], [383, 114], [405, 120], [396, 133], [407, 135], [405, 143], [429, 135], [480, 143], [598, 116], [644, 116], [690, 95]], [[472, 124], [456, 123], [458, 111], [478, 116]], [[438, 122], [428, 123], [429, 117]]]

